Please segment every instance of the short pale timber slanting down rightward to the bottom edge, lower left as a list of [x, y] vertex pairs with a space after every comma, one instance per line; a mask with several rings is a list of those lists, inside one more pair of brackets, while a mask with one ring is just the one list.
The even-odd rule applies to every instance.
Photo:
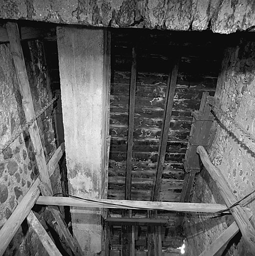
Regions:
[[43, 247], [46, 249], [50, 256], [61, 256], [62, 254], [59, 252], [55, 243], [47, 234], [46, 230], [34, 215], [32, 211], [27, 215], [27, 221], [32, 226], [35, 233], [38, 235], [39, 240], [41, 241]]

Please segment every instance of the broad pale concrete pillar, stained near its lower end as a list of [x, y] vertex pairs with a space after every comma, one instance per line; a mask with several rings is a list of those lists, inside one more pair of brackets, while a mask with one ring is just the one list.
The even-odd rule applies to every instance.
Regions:
[[[110, 51], [106, 29], [61, 26], [57, 44], [69, 193], [107, 194]], [[71, 208], [73, 232], [86, 255], [102, 249], [101, 211]]]

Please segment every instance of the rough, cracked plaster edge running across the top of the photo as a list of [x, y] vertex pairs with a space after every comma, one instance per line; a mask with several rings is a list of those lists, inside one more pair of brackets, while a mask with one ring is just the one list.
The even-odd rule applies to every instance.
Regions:
[[255, 1], [2, 0], [0, 18], [232, 33], [255, 25]]

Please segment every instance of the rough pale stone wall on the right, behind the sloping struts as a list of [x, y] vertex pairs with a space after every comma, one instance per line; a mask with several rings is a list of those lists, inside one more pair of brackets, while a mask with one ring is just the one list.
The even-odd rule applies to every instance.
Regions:
[[[239, 128], [254, 136], [255, 129], [255, 40], [252, 35], [240, 38], [236, 46], [226, 49], [216, 90], [216, 104], [228, 114], [230, 120], [220, 117], [223, 128], [216, 121], [211, 130], [207, 148], [211, 161], [224, 174], [237, 200], [255, 188], [254, 142]], [[216, 111], [217, 113], [217, 111]], [[220, 115], [221, 116], [221, 115]], [[236, 123], [237, 125], [234, 125]], [[232, 131], [235, 137], [230, 134]], [[255, 212], [254, 196], [242, 205]], [[206, 170], [196, 178], [194, 202], [223, 202]], [[252, 218], [254, 224], [255, 218]], [[186, 218], [188, 255], [197, 255], [208, 246], [233, 221], [231, 216]], [[190, 237], [192, 235], [192, 237]], [[228, 245], [226, 255], [250, 255], [247, 245], [237, 235]], [[225, 255], [225, 254], [224, 254]], [[253, 254], [251, 254], [253, 255]]]

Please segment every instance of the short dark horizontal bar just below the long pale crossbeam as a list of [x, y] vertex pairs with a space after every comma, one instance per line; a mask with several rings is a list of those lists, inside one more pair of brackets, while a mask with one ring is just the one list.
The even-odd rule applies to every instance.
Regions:
[[106, 221], [109, 225], [139, 225], [139, 226], [157, 226], [168, 224], [168, 219], [160, 218], [127, 218], [127, 217], [108, 217]]

